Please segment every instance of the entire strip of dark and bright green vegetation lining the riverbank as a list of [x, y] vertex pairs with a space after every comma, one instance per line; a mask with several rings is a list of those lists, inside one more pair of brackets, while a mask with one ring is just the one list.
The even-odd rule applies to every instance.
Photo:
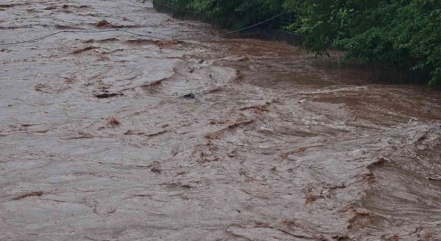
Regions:
[[[173, 0], [172, 0], [173, 1]], [[347, 59], [361, 59], [427, 76], [441, 83], [441, 0], [175, 0], [185, 8], [240, 28], [289, 10], [271, 27], [305, 35], [304, 45], [317, 54], [336, 46]]]

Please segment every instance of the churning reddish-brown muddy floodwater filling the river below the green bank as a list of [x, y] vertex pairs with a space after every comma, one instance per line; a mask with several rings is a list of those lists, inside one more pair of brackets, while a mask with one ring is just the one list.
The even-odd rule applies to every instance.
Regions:
[[441, 92], [148, 2], [1, 0], [0, 43], [63, 30], [112, 31], [0, 45], [0, 240], [441, 240]]

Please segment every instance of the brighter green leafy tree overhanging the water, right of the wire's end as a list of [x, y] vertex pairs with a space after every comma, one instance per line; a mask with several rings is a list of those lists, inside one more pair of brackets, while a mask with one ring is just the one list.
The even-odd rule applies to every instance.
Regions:
[[[305, 45], [325, 54], [330, 45], [362, 59], [430, 76], [441, 83], [441, 1], [287, 0], [298, 14]], [[291, 26], [293, 28], [294, 26]]]

